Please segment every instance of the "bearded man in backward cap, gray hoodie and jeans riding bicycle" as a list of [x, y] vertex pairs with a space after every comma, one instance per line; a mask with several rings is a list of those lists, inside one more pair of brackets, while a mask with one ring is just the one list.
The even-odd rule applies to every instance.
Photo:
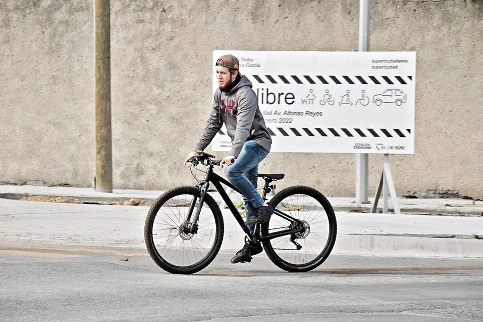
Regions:
[[[213, 107], [206, 127], [185, 164], [199, 155], [197, 150], [202, 151], [211, 143], [224, 123], [232, 147], [221, 160], [220, 166], [224, 169], [226, 179], [243, 193], [247, 210], [245, 224], [253, 232], [256, 223], [267, 220], [273, 213], [273, 209], [257, 192], [258, 165], [269, 153], [272, 138], [258, 107], [252, 83], [239, 72], [238, 59], [232, 55], [221, 56], [215, 68], [218, 89], [213, 95]], [[248, 247], [245, 244], [231, 259], [231, 263], [245, 262]], [[252, 256], [262, 252], [260, 243], [250, 247]]]

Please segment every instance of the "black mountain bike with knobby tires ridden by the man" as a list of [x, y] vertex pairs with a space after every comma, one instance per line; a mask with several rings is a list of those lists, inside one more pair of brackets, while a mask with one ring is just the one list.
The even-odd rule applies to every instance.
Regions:
[[[281, 190], [269, 201], [274, 214], [265, 222], [257, 223], [251, 233], [222, 184], [238, 193], [239, 190], [213, 172], [221, 160], [209, 153], [197, 152], [200, 155], [191, 159], [191, 173], [198, 186], [166, 191], [154, 201], [146, 216], [144, 241], [149, 255], [160, 268], [173, 274], [192, 274], [208, 266], [217, 255], [224, 225], [218, 204], [208, 194], [210, 183], [245, 232], [245, 243], [251, 247], [262, 243], [268, 258], [279, 268], [307, 272], [328, 258], [336, 240], [337, 221], [323, 194], [306, 186]], [[199, 170], [200, 165], [207, 170]], [[202, 180], [197, 178], [198, 171], [205, 174]], [[264, 200], [276, 188], [272, 182], [284, 176], [258, 174], [265, 180]], [[247, 262], [251, 260], [249, 247]]]

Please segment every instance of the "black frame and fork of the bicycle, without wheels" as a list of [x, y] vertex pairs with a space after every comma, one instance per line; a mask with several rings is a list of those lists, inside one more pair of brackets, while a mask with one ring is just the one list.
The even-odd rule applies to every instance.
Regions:
[[[234, 191], [236, 191], [237, 193], [239, 193], [241, 195], [243, 195], [243, 193], [241, 193], [235, 186], [233, 186], [226, 179], [224, 179], [224, 178], [218, 176], [216, 173], [214, 173], [212, 165], [210, 165], [208, 167], [208, 171], [206, 172], [205, 178], [202, 181], [199, 181], [199, 184], [201, 186], [200, 202], [198, 204], [198, 208], [196, 209], [196, 213], [193, 217], [192, 222], [193, 223], [198, 222], [198, 217], [199, 217], [200, 212], [201, 212], [201, 206], [203, 205], [203, 201], [205, 199], [205, 196], [208, 193], [208, 187], [210, 185], [210, 182], [213, 183], [213, 185], [215, 186], [216, 190], [220, 194], [220, 196], [223, 199], [223, 201], [225, 202], [225, 204], [228, 206], [228, 209], [233, 214], [233, 217], [235, 217], [235, 220], [238, 222], [241, 229], [243, 229], [243, 231], [248, 235], [248, 237], [251, 240], [254, 240], [254, 235], [250, 232], [250, 229], [248, 229], [248, 227], [245, 225], [245, 221], [243, 220], [240, 213], [238, 212], [238, 209], [236, 209], [235, 205], [233, 205], [233, 202], [228, 197], [228, 194], [225, 192], [225, 190], [223, 189], [223, 186], [221, 184], [224, 184], [225, 186], [233, 189]], [[267, 200], [266, 199], [267, 188], [268, 188], [268, 185], [270, 184], [270, 182], [271, 182], [271, 180], [265, 181], [265, 187], [264, 187], [264, 192], [263, 192], [263, 196], [262, 196], [262, 198], [264, 200]], [[191, 214], [192, 214], [192, 211], [194, 210], [195, 206], [196, 206], [196, 198], [193, 198], [191, 205], [190, 205], [190, 211], [188, 212], [188, 218], [186, 219], [187, 221], [189, 221], [191, 219]], [[257, 237], [258, 237], [257, 241], [266, 241], [266, 240], [269, 240], [269, 239], [272, 239], [272, 238], [290, 235], [290, 234], [297, 233], [297, 232], [300, 232], [300, 231], [303, 230], [303, 223], [300, 220], [298, 220], [298, 219], [296, 219], [296, 218], [294, 218], [290, 215], [287, 215], [286, 213], [284, 213], [284, 212], [282, 212], [278, 209], [274, 210], [274, 214], [277, 214], [280, 217], [282, 217], [286, 220], [289, 220], [289, 221], [296, 221], [296, 222], [298, 222], [302, 225], [300, 225], [300, 228], [298, 228], [298, 229], [287, 229], [287, 230], [283, 230], [283, 231], [277, 231], [277, 232], [269, 233], [268, 235], [262, 236], [262, 237], [259, 237], [258, 236], [259, 234], [257, 233]], [[191, 226], [191, 232], [192, 233], [195, 232], [195, 229], [196, 229], [195, 226], [196, 225]], [[258, 232], [258, 230], [259, 230], [258, 226], [259, 226], [259, 224], [257, 223], [257, 228], [255, 229], [255, 232]]]

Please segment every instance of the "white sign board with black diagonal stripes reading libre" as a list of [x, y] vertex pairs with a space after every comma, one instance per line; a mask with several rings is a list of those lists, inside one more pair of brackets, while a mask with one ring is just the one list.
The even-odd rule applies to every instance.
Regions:
[[[224, 54], [253, 84], [271, 151], [414, 153], [416, 52], [215, 50], [213, 66]], [[223, 127], [212, 148], [230, 146]]]

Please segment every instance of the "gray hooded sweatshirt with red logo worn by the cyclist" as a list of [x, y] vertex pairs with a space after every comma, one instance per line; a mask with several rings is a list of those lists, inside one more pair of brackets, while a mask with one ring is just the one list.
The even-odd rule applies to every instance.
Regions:
[[213, 95], [213, 108], [200, 140], [193, 150], [204, 150], [225, 123], [231, 138], [230, 155], [238, 157], [246, 141], [253, 140], [270, 152], [272, 138], [265, 126], [252, 83], [242, 76], [229, 92], [220, 89]]

